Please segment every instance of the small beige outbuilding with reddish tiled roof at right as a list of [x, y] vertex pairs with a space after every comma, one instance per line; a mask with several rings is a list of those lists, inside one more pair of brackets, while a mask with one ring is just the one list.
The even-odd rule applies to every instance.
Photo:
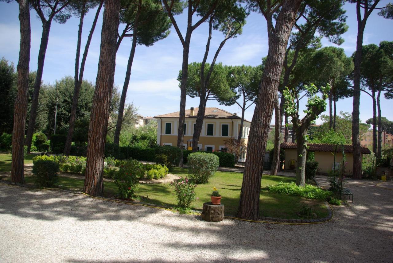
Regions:
[[[307, 144], [309, 149], [307, 152], [314, 152], [315, 161], [318, 162], [318, 173], [319, 174], [329, 174], [334, 168], [340, 168], [342, 164], [342, 146], [339, 144], [336, 152], [336, 162], [334, 162], [334, 150], [336, 144], [327, 143], [309, 143]], [[298, 145], [293, 142], [284, 142], [280, 146], [285, 150], [285, 164], [284, 169], [286, 171], [294, 171], [297, 167], [297, 147]], [[345, 153], [345, 175], [352, 175], [353, 167], [353, 147], [352, 145], [343, 145]], [[363, 154], [370, 154], [370, 150], [367, 147], [360, 146], [360, 158]]]

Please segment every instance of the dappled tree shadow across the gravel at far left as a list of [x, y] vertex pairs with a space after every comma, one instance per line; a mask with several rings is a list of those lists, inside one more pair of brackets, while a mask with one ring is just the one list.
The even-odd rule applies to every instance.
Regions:
[[[18, 191], [18, 195], [15, 192]], [[0, 214], [40, 220], [59, 220], [63, 216], [79, 220], [136, 220], [158, 212], [144, 206], [125, 205], [89, 198], [81, 194], [54, 191], [33, 191], [0, 186]], [[129, 210], [133, 210], [130, 214]]]

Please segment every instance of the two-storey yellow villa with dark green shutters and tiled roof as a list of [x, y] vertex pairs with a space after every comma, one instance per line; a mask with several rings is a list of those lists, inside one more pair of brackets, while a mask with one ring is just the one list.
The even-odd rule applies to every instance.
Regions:
[[[184, 123], [184, 148], [187, 147], [187, 141], [190, 143], [193, 139], [194, 126], [198, 108], [185, 110]], [[158, 145], [177, 145], [177, 133], [179, 124], [179, 112], [173, 112], [154, 117], [157, 119], [157, 144]], [[202, 151], [226, 151], [225, 140], [237, 138], [240, 130], [241, 117], [236, 113], [230, 113], [219, 108], [206, 108], [205, 117], [198, 141], [198, 149]], [[244, 120], [242, 140], [247, 145], [248, 133], [250, 132], [251, 122]], [[191, 141], [189, 141], [191, 140]], [[244, 161], [246, 154], [239, 157], [239, 161]]]

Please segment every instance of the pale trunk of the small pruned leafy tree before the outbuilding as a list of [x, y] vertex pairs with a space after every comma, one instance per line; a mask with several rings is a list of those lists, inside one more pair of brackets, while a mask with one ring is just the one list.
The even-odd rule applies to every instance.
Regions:
[[306, 160], [307, 160], [307, 144], [305, 143], [305, 136], [308, 128], [302, 124], [296, 130], [296, 143], [298, 144], [298, 156], [296, 167], [296, 185], [305, 186], [306, 184]]

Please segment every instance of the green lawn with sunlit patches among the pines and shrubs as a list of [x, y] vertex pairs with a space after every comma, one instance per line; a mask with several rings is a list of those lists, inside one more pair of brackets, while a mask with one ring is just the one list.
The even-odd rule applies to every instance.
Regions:
[[[186, 176], [187, 170], [182, 168], [174, 168], [171, 173], [179, 176]], [[225, 215], [235, 215], [239, 205], [240, 190], [242, 184], [243, 174], [216, 172], [210, 178], [209, 183], [199, 184], [195, 188], [196, 197], [198, 200], [191, 204], [191, 208], [195, 210], [202, 210], [202, 205], [205, 202], [210, 202], [210, 195], [213, 187], [217, 187], [222, 196], [222, 203], [225, 205]], [[266, 190], [266, 186], [277, 184], [278, 182], [292, 182], [294, 178], [284, 176], [270, 176], [264, 175], [261, 183], [261, 203], [260, 215], [268, 217], [279, 217], [285, 219], [298, 218], [296, 215], [303, 203], [312, 206], [314, 212], [319, 217], [327, 216], [327, 209], [322, 201], [308, 200], [298, 196], [275, 194]], [[31, 177], [26, 177], [26, 183], [32, 183]], [[83, 190], [83, 179], [74, 179], [61, 176], [59, 184], [64, 188], [72, 190]], [[113, 182], [104, 182], [105, 196], [112, 197], [117, 195], [117, 187]], [[173, 189], [167, 184], [140, 184], [137, 191], [138, 198], [146, 203], [154, 205], [163, 205], [167, 207], [176, 206], [176, 197], [172, 194]]]

